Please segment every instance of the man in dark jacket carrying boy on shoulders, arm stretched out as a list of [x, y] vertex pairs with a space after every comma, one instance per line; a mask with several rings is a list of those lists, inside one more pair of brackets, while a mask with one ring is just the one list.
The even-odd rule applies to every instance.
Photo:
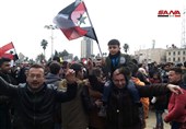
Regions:
[[[139, 108], [133, 103], [132, 93], [128, 90], [129, 80], [124, 69], [116, 69], [113, 73], [113, 90], [107, 103], [107, 129], [142, 129]], [[170, 91], [178, 94], [178, 85], [162, 84], [151, 86], [136, 86], [140, 97], [156, 96]], [[178, 91], [176, 91], [178, 90]]]

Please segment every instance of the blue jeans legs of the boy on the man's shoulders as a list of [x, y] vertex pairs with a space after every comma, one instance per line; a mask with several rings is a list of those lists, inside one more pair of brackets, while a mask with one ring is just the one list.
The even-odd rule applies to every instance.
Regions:
[[[112, 89], [113, 89], [113, 84], [112, 84], [112, 81], [109, 80], [104, 85], [103, 97], [102, 97], [103, 102], [107, 103], [109, 93], [112, 92]], [[127, 89], [131, 93], [131, 95], [133, 97], [133, 102], [139, 103], [140, 96], [139, 96], [138, 90], [135, 86], [135, 83], [131, 80], [129, 80]]]

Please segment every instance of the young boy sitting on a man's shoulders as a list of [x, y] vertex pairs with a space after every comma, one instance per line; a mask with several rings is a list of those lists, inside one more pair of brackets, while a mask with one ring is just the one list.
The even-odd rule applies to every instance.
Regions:
[[[132, 74], [132, 71], [137, 68], [137, 66], [131, 61], [131, 58], [129, 55], [121, 54], [120, 52], [120, 43], [118, 39], [111, 39], [108, 42], [108, 50], [109, 55], [105, 59], [105, 70], [107, 75], [107, 82], [104, 86], [104, 93], [103, 93], [103, 103], [107, 103], [108, 95], [112, 91], [112, 77], [113, 72], [120, 68], [125, 71], [125, 73], [128, 73], [128, 79]], [[131, 95], [133, 97], [135, 103], [140, 102], [140, 97], [138, 94], [138, 91], [133, 84], [132, 81], [128, 82], [127, 89], [131, 92]]]

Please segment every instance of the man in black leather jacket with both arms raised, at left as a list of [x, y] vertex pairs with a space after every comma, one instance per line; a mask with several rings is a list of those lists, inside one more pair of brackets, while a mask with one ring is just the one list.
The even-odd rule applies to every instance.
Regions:
[[15, 109], [14, 129], [54, 129], [56, 102], [72, 99], [77, 93], [74, 71], [66, 73], [67, 92], [57, 91], [45, 83], [45, 71], [39, 64], [31, 66], [26, 83], [12, 85], [0, 77], [0, 94], [13, 99]]

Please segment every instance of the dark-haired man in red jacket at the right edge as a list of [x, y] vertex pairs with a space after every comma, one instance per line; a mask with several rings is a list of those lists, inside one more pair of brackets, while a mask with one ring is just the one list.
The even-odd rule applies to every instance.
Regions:
[[[183, 89], [184, 94], [171, 94], [168, 102], [168, 114], [164, 121], [171, 122], [172, 129], [186, 129], [186, 83], [183, 82], [182, 68], [171, 68], [168, 72], [168, 81], [177, 84]], [[186, 78], [186, 77], [184, 77]]]

